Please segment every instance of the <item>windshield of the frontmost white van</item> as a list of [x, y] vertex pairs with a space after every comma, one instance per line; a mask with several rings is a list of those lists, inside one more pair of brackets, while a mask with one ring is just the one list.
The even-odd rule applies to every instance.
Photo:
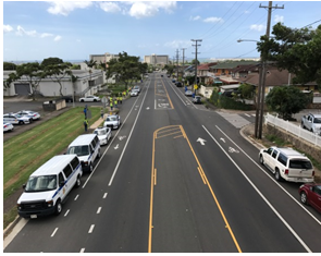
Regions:
[[30, 176], [25, 192], [53, 191], [57, 185], [57, 175]]

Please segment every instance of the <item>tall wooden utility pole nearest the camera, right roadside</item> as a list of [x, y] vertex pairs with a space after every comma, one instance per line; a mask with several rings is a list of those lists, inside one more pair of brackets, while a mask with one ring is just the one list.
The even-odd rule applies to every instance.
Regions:
[[[269, 1], [269, 7], [263, 7], [260, 4], [260, 8], [268, 8], [268, 22], [267, 22], [267, 38], [270, 37], [271, 29], [271, 14], [272, 9], [284, 9], [284, 5], [272, 7], [272, 1]], [[263, 60], [266, 54], [261, 53], [261, 73], [259, 78], [259, 88], [258, 88], [258, 102], [257, 102], [257, 118], [256, 118], [256, 126], [255, 126], [255, 136], [256, 138], [262, 138], [262, 125], [263, 125], [263, 113], [264, 113], [264, 96], [266, 96], [266, 80], [267, 80], [267, 69], [266, 69], [266, 60]], [[258, 109], [260, 111], [258, 111]], [[258, 115], [259, 113], [259, 115]]]

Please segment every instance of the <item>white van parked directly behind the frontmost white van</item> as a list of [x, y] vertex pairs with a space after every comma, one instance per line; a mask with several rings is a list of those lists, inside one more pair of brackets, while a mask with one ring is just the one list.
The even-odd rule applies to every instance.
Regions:
[[82, 161], [83, 170], [92, 172], [95, 159], [101, 156], [97, 134], [84, 134], [76, 137], [69, 145], [66, 154], [76, 154]]

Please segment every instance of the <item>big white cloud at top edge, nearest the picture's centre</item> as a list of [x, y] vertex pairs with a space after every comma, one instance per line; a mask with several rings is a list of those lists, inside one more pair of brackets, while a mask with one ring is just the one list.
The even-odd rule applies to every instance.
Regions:
[[134, 2], [128, 14], [133, 17], [140, 19], [155, 16], [160, 10], [164, 10], [166, 13], [172, 13], [175, 8], [176, 2]]

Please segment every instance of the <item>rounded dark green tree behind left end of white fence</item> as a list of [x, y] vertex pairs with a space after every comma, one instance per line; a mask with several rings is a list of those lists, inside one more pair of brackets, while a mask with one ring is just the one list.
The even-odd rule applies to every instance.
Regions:
[[305, 109], [309, 101], [309, 96], [295, 86], [275, 86], [266, 98], [268, 108], [285, 120]]

